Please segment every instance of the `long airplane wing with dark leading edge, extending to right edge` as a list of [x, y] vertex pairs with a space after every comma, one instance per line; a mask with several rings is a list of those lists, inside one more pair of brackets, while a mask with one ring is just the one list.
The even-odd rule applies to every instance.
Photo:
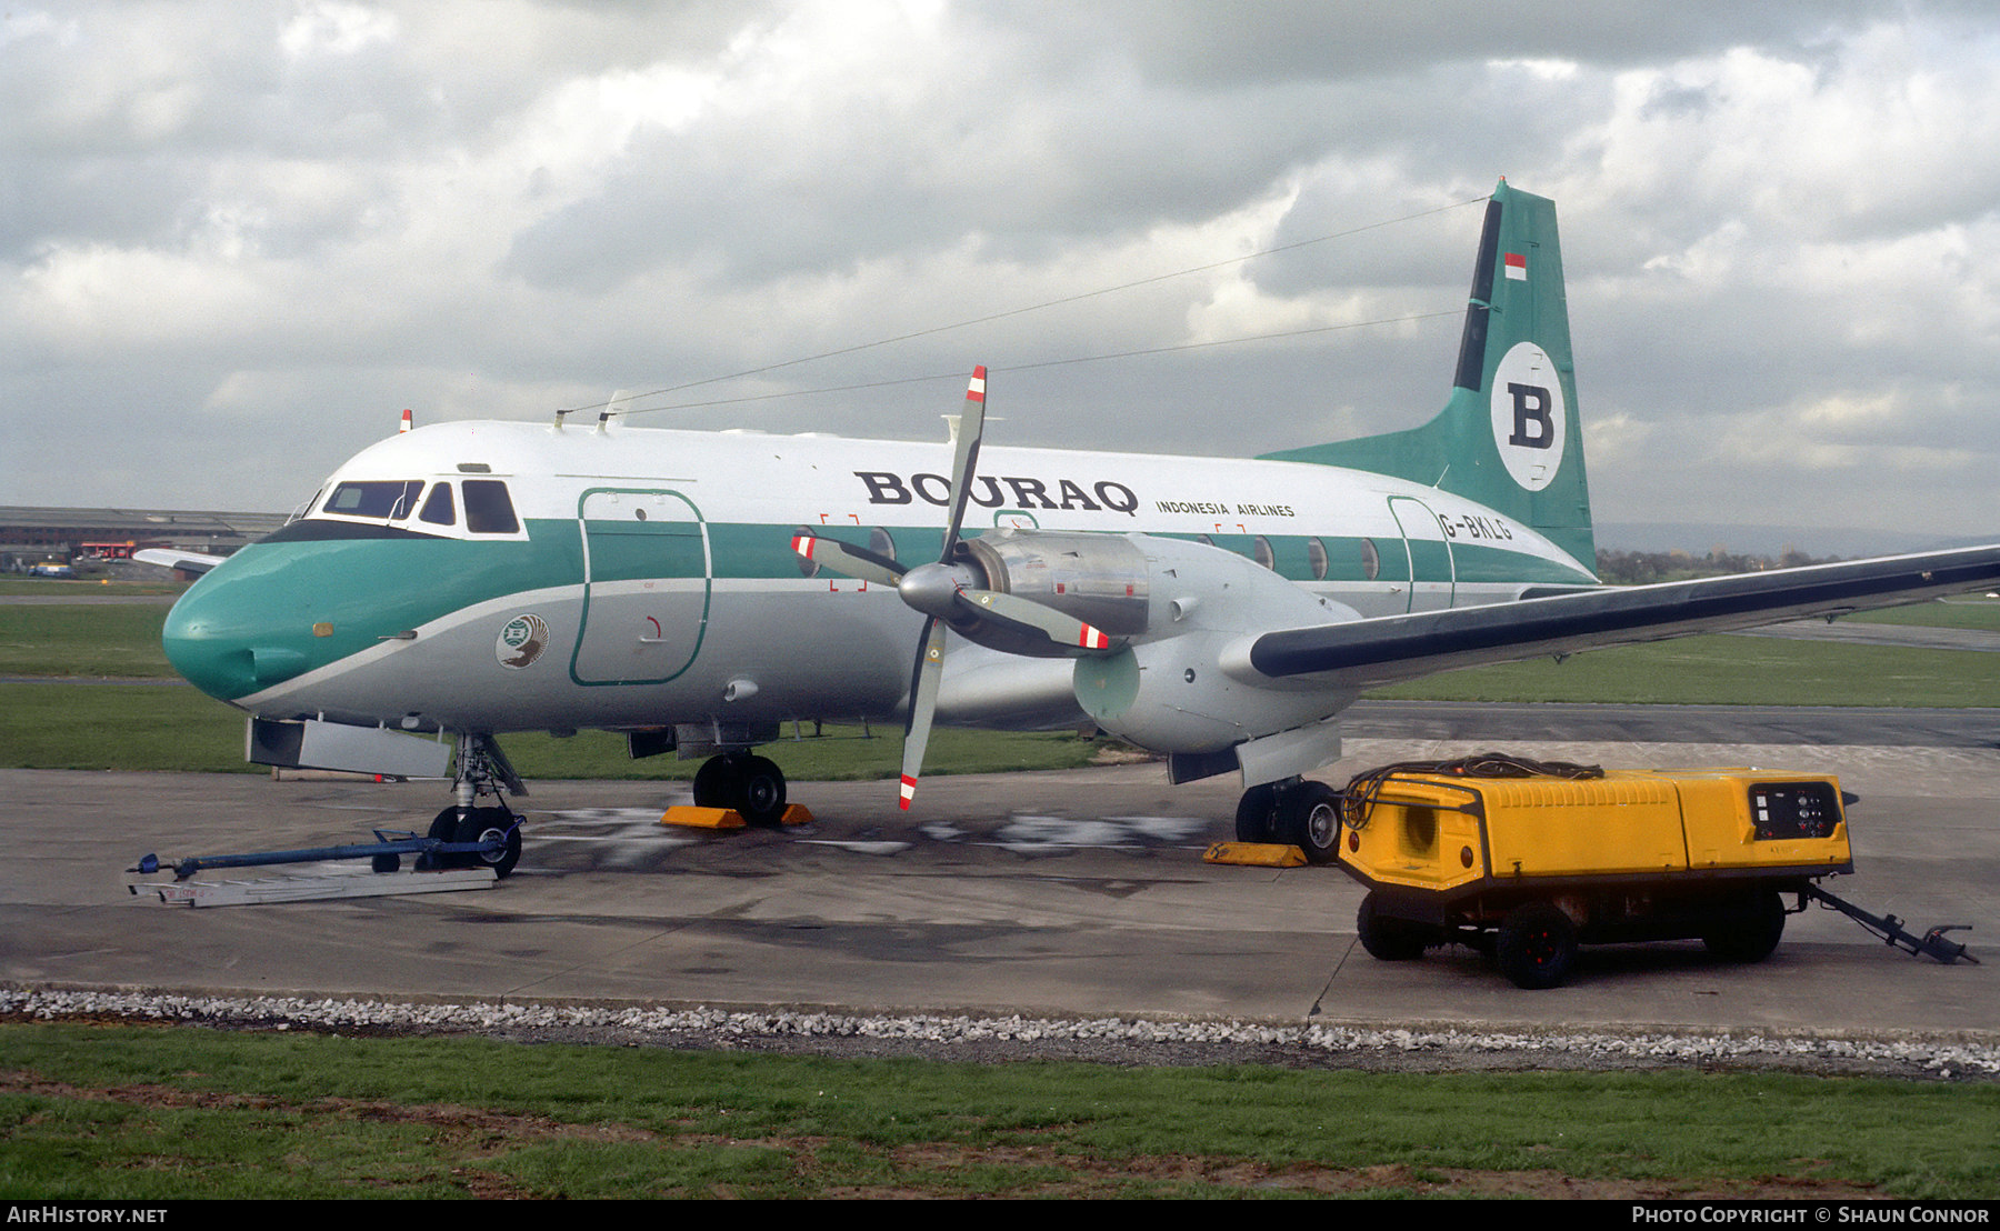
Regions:
[[1560, 655], [1780, 619], [1894, 608], [2000, 582], [2000, 546], [1590, 590], [1262, 633], [1226, 663], [1254, 679], [1374, 687], [1432, 671]]

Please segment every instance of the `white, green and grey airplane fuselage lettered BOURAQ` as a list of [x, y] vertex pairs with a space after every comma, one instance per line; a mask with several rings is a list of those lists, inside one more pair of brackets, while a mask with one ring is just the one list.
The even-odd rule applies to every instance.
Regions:
[[[948, 472], [948, 444], [438, 424], [364, 450], [304, 518], [202, 578], [166, 647], [212, 695], [278, 719], [884, 719], [906, 703], [922, 617], [892, 588], [816, 570], [792, 540], [936, 560]], [[1332, 466], [990, 448], [970, 496], [968, 536], [1144, 536], [1254, 562], [1258, 586], [1282, 578], [1300, 598], [1280, 625], [1594, 584], [1518, 520]], [[1184, 570], [1156, 558], [1154, 572]], [[1180, 596], [1142, 582], [1140, 598]], [[1148, 625], [1184, 631], [1186, 617], [1162, 610]], [[1080, 721], [1072, 669], [964, 645], [938, 717]]]

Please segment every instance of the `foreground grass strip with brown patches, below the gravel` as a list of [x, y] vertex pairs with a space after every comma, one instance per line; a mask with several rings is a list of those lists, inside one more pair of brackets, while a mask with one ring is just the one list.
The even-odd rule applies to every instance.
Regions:
[[0, 1197], [1992, 1197], [2000, 1087], [0, 1025]]

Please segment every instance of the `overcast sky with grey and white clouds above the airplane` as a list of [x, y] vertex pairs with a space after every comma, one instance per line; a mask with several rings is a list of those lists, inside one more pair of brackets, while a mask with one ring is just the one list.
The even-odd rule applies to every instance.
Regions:
[[2000, 538], [1990, 0], [12, 0], [0, 114], [0, 504], [614, 390], [936, 440], [972, 364], [1006, 444], [1414, 426], [1506, 176], [1600, 520]]

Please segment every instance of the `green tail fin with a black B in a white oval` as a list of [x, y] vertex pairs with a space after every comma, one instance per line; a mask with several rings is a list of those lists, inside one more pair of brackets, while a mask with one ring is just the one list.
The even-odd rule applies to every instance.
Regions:
[[1452, 398], [1422, 428], [1266, 454], [1442, 488], [1516, 518], [1596, 572], [1556, 204], [1500, 180], [1472, 270]]

